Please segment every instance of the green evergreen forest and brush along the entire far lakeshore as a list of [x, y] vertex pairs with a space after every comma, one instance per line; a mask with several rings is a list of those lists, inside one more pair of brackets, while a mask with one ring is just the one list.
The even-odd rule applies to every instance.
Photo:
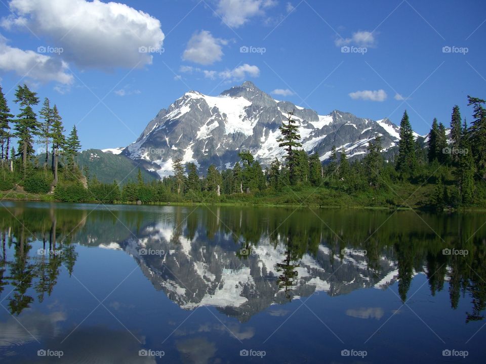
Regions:
[[[194, 163], [173, 161], [174, 175], [145, 182], [98, 181], [89, 168], [79, 168], [81, 149], [74, 126], [65, 135], [56, 105], [46, 98], [38, 115], [37, 94], [18, 86], [10, 113], [0, 88], [0, 142], [4, 199], [27, 198], [99, 203], [244, 203], [318, 206], [382, 206], [449, 209], [486, 207], [486, 101], [468, 96], [472, 122], [454, 106], [450, 129], [434, 119], [426, 145], [415, 139], [407, 111], [400, 122], [400, 140], [392, 158], [385, 160], [380, 135], [368, 153], [350, 162], [335, 147], [323, 164], [301, 144], [297, 122], [290, 112], [280, 127], [279, 146], [285, 159], [263, 169], [248, 150], [239, 153], [232, 169], [211, 165], [205, 176]], [[12, 145], [17, 141], [17, 150]], [[35, 155], [34, 144], [43, 152]], [[42, 160], [41, 160], [42, 159]], [[127, 180], [128, 179], [128, 180]], [[19, 192], [21, 192], [19, 194]], [[22, 194], [26, 192], [27, 194]]]

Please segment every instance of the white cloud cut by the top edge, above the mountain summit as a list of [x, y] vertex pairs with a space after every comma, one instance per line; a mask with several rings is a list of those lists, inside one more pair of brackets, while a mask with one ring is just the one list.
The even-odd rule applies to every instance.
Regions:
[[216, 13], [230, 27], [237, 28], [251, 17], [264, 15], [265, 9], [274, 5], [274, 0], [219, 0]]

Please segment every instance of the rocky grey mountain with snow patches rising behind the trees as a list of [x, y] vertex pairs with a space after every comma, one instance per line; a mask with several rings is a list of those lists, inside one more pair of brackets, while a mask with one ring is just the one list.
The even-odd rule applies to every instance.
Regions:
[[194, 162], [201, 171], [212, 163], [219, 169], [230, 168], [242, 149], [265, 166], [285, 154], [278, 147], [278, 128], [289, 111], [295, 112], [304, 150], [318, 153], [321, 161], [330, 157], [333, 146], [353, 158], [366, 154], [369, 141], [378, 134], [384, 150], [399, 139], [398, 126], [386, 118], [374, 121], [338, 110], [318, 115], [291, 102], [274, 100], [246, 81], [217, 97], [187, 92], [168, 109], [160, 110], [121, 154], [143, 161], [145, 168], [160, 177], [172, 174], [176, 158]]

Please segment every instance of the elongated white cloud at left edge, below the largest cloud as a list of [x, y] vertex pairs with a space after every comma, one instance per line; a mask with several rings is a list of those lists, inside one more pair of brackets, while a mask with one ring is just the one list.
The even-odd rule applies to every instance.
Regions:
[[67, 64], [51, 56], [24, 51], [7, 45], [4, 36], [0, 35], [0, 69], [15, 72], [21, 77], [28, 77], [43, 83], [56, 81], [71, 84], [72, 74], [67, 73]]

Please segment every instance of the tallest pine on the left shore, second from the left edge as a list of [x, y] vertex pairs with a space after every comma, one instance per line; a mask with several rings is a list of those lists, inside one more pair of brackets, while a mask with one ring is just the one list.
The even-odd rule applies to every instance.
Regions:
[[25, 171], [27, 168], [28, 157], [34, 152], [33, 136], [38, 128], [37, 116], [32, 110], [32, 106], [39, 103], [37, 94], [31, 92], [27, 85], [17, 86], [15, 92], [15, 102], [20, 106], [20, 113], [17, 115], [15, 122], [15, 133], [19, 139], [19, 150], [22, 154], [22, 166]]

